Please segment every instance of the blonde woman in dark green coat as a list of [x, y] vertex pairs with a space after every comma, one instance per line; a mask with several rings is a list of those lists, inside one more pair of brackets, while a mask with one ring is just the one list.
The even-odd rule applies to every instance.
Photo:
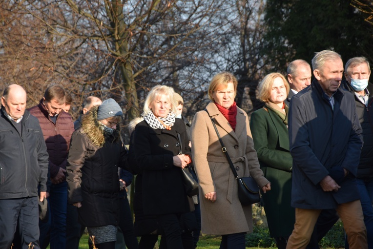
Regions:
[[251, 114], [250, 129], [260, 167], [272, 190], [263, 195], [269, 233], [277, 247], [285, 249], [294, 228], [295, 211], [290, 207], [291, 166], [289, 152], [289, 84], [279, 73], [268, 74], [259, 83], [259, 99], [265, 106]]

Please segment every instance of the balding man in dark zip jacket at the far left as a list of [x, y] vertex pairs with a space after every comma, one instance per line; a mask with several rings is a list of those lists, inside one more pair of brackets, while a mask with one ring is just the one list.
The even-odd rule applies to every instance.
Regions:
[[46, 197], [48, 153], [39, 121], [25, 110], [26, 91], [5, 88], [0, 110], [0, 248], [19, 228], [22, 248], [39, 248], [39, 208]]

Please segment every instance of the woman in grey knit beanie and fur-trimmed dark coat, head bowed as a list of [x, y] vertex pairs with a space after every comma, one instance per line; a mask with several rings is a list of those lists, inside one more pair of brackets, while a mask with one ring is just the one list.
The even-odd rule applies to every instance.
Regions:
[[121, 141], [122, 108], [105, 100], [86, 113], [71, 137], [66, 171], [69, 202], [78, 207], [98, 249], [114, 249], [119, 221], [118, 166], [127, 152]]

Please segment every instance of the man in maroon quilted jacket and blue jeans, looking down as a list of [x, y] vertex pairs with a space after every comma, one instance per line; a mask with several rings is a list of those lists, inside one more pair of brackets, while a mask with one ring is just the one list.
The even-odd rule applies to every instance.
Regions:
[[[39, 222], [40, 246], [65, 249], [67, 183], [66, 163], [74, 125], [70, 114], [63, 111], [66, 92], [60, 85], [49, 86], [40, 103], [30, 108], [30, 113], [40, 123], [49, 154], [50, 187], [47, 189], [50, 218]], [[49, 235], [50, 234], [50, 240]]]

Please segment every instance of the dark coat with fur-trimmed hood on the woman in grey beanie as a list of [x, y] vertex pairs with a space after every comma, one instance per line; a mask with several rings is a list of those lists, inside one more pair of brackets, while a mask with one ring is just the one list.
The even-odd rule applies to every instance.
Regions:
[[118, 225], [118, 166], [127, 163], [127, 151], [120, 139], [120, 126], [104, 135], [97, 126], [97, 107], [72, 135], [67, 159], [69, 202], [82, 203], [79, 220], [86, 227]]

